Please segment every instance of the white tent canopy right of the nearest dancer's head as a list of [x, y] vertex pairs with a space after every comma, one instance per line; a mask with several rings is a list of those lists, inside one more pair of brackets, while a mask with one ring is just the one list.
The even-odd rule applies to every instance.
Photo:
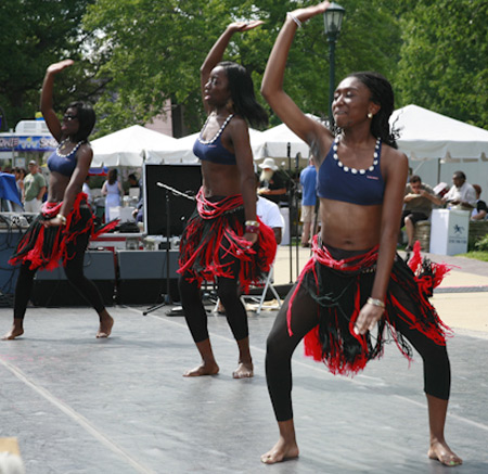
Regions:
[[483, 128], [418, 105], [395, 111], [390, 124], [399, 129], [398, 148], [409, 158], [488, 161], [488, 130]]

